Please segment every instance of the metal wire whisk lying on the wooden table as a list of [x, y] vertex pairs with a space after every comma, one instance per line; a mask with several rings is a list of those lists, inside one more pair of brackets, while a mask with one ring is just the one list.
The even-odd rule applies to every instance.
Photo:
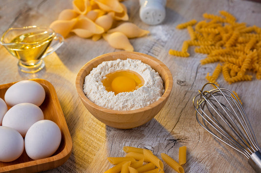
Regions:
[[[216, 89], [204, 91], [207, 85]], [[230, 90], [206, 83], [193, 98], [198, 123], [216, 138], [248, 158], [261, 173], [261, 148], [237, 96]]]

